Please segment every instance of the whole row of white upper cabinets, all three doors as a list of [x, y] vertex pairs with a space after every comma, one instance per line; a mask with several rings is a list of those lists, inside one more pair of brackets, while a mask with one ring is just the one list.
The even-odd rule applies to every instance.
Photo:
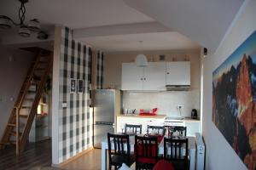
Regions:
[[166, 91], [166, 85], [190, 85], [190, 61], [149, 62], [146, 67], [122, 64], [122, 90]]

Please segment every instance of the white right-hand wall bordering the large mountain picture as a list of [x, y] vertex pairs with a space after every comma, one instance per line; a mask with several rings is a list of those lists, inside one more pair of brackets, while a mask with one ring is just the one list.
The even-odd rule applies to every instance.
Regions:
[[212, 71], [218, 68], [256, 29], [256, 1], [245, 1], [224, 41], [203, 61], [202, 133], [207, 147], [207, 170], [247, 169], [212, 122]]

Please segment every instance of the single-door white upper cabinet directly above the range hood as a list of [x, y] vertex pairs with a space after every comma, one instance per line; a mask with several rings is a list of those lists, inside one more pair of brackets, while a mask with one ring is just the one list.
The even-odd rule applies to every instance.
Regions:
[[190, 61], [166, 62], [166, 85], [190, 85]]

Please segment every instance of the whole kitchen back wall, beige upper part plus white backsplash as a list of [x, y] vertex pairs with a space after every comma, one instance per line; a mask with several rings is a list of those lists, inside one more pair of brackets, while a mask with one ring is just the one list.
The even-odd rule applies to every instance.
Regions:
[[[134, 62], [138, 52], [124, 52], [106, 54], [104, 65], [104, 87], [121, 87], [121, 66], [123, 62]], [[190, 60], [191, 88], [189, 91], [180, 92], [124, 92], [123, 108], [128, 109], [153, 109], [157, 107], [159, 114], [179, 116], [177, 105], [183, 105], [183, 116], [190, 116], [191, 110], [200, 113], [200, 50], [183, 51], [146, 51], [149, 61], [159, 61], [159, 55], [165, 54], [166, 61]]]

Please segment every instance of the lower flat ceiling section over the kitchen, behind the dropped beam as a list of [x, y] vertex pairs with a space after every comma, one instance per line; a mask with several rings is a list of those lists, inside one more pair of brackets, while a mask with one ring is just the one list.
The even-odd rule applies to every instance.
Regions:
[[[139, 41], [143, 40], [140, 44]], [[200, 48], [178, 32], [151, 32], [106, 37], [87, 37], [80, 41], [106, 52], [143, 51], [143, 50], [179, 50]]]

